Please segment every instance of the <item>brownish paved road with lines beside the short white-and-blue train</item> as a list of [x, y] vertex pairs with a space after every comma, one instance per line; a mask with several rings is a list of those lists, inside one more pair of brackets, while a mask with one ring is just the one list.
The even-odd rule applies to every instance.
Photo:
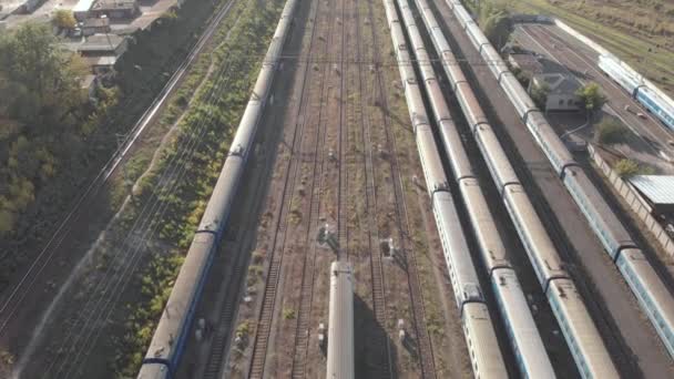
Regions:
[[[604, 110], [616, 115], [639, 135], [652, 148], [654, 155], [674, 160], [674, 147], [667, 143], [670, 140], [674, 141], [674, 133], [643, 109], [623, 88], [604, 75], [596, 65], [599, 53], [555, 25], [520, 24], [514, 35], [527, 49], [570, 69], [569, 72], [581, 82], [593, 81], [600, 84], [609, 100]], [[629, 105], [631, 111], [625, 111], [625, 105]], [[645, 119], [639, 117], [637, 112], [643, 113]]]

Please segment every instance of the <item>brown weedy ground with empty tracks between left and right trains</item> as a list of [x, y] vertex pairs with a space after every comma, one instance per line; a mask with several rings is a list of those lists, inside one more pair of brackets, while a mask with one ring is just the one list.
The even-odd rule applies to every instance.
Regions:
[[[207, 336], [207, 352], [191, 354], [187, 365], [232, 378], [324, 376], [318, 326], [327, 325], [329, 264], [343, 257], [355, 269], [357, 376], [470, 377], [430, 204], [413, 180], [422, 172], [397, 66], [387, 64], [382, 7], [315, 1], [298, 12], [274, 91], [285, 100], [275, 101], [262, 126], [282, 135], [265, 163], [272, 171], [259, 224], [236, 252], [252, 257], [246, 288], [234, 297], [212, 293], [241, 301], [236, 317], [207, 320], [239, 339], [231, 338], [221, 358], [216, 337]], [[326, 225], [334, 243], [320, 245]]]

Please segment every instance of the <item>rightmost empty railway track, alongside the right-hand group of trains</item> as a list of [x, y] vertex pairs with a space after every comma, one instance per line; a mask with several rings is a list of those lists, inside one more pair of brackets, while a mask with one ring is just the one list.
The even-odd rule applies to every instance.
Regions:
[[[369, 3], [369, 13], [370, 19], [372, 19], [372, 8], [371, 2]], [[374, 22], [371, 23], [372, 28], [372, 38], [375, 45], [375, 61], [381, 62], [381, 51], [380, 44], [378, 41], [378, 35], [376, 29], [374, 27]], [[377, 90], [379, 93], [379, 101], [382, 110], [388, 110], [388, 99], [387, 94], [389, 93], [387, 90], [386, 81], [382, 78], [382, 73], [380, 66], [376, 68], [376, 83]], [[421, 285], [419, 283], [419, 276], [417, 273], [417, 262], [416, 254], [413, 249], [410, 247], [409, 238], [410, 238], [410, 223], [407, 209], [407, 203], [405, 201], [402, 177], [400, 173], [400, 165], [398, 162], [398, 150], [396, 146], [396, 137], [392, 132], [392, 126], [390, 124], [390, 119], [382, 114], [384, 117], [384, 130], [386, 135], [386, 145], [389, 147], [388, 151], [391, 152], [390, 158], [388, 160], [392, 173], [394, 181], [394, 197], [396, 204], [396, 221], [398, 224], [399, 231], [399, 240], [400, 240], [400, 253], [402, 259], [405, 259], [405, 268], [407, 269], [408, 279], [409, 279], [409, 294], [411, 298], [412, 305], [412, 318], [413, 326], [416, 329], [417, 336], [417, 348], [419, 356], [419, 363], [421, 368], [421, 376], [423, 378], [436, 378], [436, 368], [435, 368], [435, 358], [432, 344], [430, 340], [430, 336], [428, 334], [428, 329], [426, 327], [426, 310], [423, 305], [423, 296], [421, 293]], [[406, 152], [408, 156], [410, 156], [410, 152]], [[413, 162], [413, 160], [410, 160]], [[409, 260], [409, 262], [408, 262]], [[411, 263], [411, 264], [410, 264]]]

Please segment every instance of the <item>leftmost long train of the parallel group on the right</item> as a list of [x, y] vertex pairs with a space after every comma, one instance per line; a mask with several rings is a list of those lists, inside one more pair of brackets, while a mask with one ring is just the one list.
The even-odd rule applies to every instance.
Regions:
[[449, 192], [396, 6], [394, 0], [385, 0], [384, 6], [473, 372], [479, 378], [507, 378], [503, 357], [494, 344], [493, 324]]

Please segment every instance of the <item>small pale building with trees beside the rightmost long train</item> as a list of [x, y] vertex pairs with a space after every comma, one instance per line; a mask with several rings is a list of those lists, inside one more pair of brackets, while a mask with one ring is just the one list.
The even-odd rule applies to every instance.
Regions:
[[540, 73], [533, 75], [529, 85], [529, 93], [535, 88], [548, 89], [545, 112], [580, 110], [576, 92], [581, 88], [581, 84], [575, 78], [559, 72]]

